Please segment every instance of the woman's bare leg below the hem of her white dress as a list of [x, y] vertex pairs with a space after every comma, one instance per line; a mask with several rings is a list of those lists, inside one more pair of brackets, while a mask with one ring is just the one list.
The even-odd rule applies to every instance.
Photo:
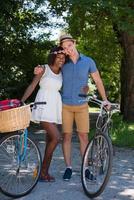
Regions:
[[60, 133], [57, 126], [53, 123], [41, 122], [41, 125], [46, 131], [46, 148], [41, 170], [41, 177], [44, 177], [48, 175], [53, 152], [60, 140]]

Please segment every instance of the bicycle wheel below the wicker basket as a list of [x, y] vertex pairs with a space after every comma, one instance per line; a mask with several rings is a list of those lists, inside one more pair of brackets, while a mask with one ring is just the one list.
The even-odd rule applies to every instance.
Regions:
[[10, 197], [28, 194], [37, 184], [41, 171], [41, 154], [36, 144], [27, 137], [25, 156], [23, 154], [24, 134], [10, 134], [0, 141], [0, 189]]

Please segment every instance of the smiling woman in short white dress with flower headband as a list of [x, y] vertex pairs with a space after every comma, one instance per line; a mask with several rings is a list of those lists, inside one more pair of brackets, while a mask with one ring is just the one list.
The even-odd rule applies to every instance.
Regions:
[[48, 56], [48, 64], [40, 69], [40, 74], [35, 75], [32, 83], [26, 89], [22, 101], [25, 101], [34, 91], [39, 83], [40, 89], [36, 95], [35, 102], [46, 102], [46, 104], [37, 105], [32, 110], [32, 120], [41, 123], [46, 134], [46, 149], [42, 164], [40, 181], [55, 181], [55, 178], [49, 175], [49, 166], [55, 150], [60, 133], [56, 124], [62, 123], [62, 101], [59, 90], [62, 86], [61, 67], [65, 63], [65, 54], [62, 47], [53, 48]]

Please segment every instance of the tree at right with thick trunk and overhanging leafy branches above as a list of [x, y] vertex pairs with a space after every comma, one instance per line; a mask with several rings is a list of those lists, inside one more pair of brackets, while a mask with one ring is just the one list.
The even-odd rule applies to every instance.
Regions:
[[[134, 121], [134, 1], [133, 0], [50, 0], [53, 12], [67, 12], [70, 32], [77, 25], [75, 36], [87, 27], [96, 33], [101, 22], [112, 27], [121, 47], [121, 112], [123, 118]], [[73, 29], [74, 30], [74, 29]]]

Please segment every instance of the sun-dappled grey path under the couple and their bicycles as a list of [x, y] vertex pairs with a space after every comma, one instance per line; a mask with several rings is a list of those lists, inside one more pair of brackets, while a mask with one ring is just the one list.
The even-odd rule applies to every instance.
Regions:
[[[45, 143], [42, 133], [33, 136], [38, 139], [41, 153], [44, 152]], [[79, 143], [73, 139], [72, 149], [73, 176], [69, 182], [62, 180], [64, 172], [64, 159], [61, 144], [54, 153], [51, 172], [56, 178], [55, 183], [38, 183], [35, 189], [20, 200], [88, 200], [84, 194], [80, 179], [80, 153]], [[9, 200], [0, 193], [0, 200]], [[134, 200], [134, 150], [115, 148], [113, 170], [110, 181], [98, 200]]]

